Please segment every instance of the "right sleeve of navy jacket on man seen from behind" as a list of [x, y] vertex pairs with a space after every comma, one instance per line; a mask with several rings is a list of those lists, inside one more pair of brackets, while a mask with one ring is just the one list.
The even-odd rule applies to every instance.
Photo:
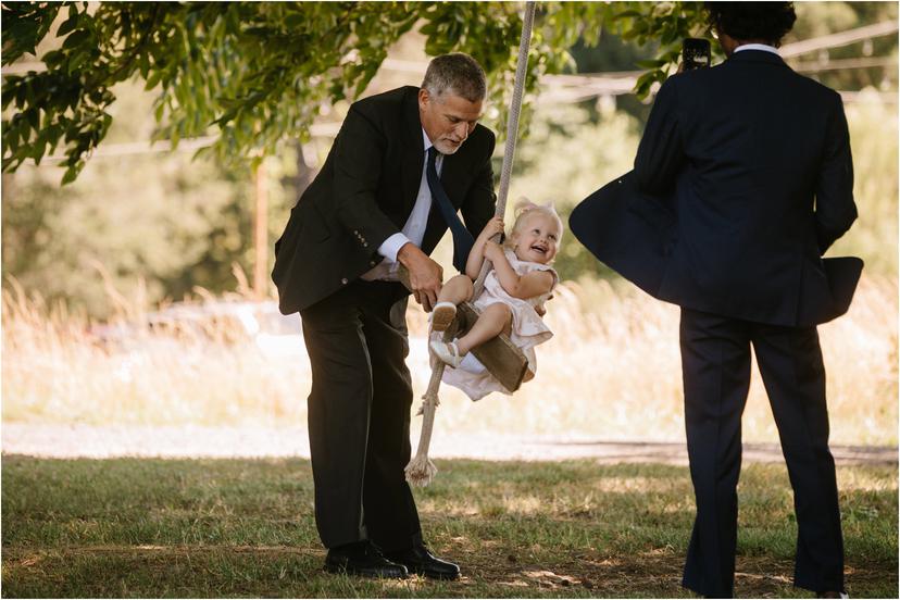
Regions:
[[815, 187], [815, 234], [818, 251], [823, 254], [857, 218], [850, 133], [847, 129], [843, 103], [837, 92], [834, 101]]

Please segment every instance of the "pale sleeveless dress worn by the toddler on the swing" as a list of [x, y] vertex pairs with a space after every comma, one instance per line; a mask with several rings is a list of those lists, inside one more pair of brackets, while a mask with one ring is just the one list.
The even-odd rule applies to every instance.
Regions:
[[[518, 275], [525, 275], [534, 271], [548, 271], [553, 275], [553, 287], [550, 291], [523, 300], [521, 298], [513, 298], [507, 293], [507, 290], [500, 285], [497, 272], [491, 270], [487, 277], [485, 277], [485, 288], [482, 295], [473, 302], [480, 311], [497, 302], [502, 302], [510, 307], [512, 312], [510, 340], [522, 349], [528, 359], [528, 371], [534, 375], [537, 372], [535, 346], [543, 343], [553, 337], [553, 333], [543, 324], [543, 320], [535, 311], [535, 307], [547, 301], [553, 288], [557, 287], [559, 275], [549, 265], [518, 260], [512, 250], [505, 250], [504, 254], [507, 255], [507, 260], [510, 261], [513, 271]], [[445, 368], [442, 382], [460, 388], [473, 400], [480, 400], [491, 391], [511, 393], [493, 375], [485, 370], [484, 365], [482, 365], [472, 352], [465, 355], [463, 363], [458, 368], [451, 368], [450, 366]]]

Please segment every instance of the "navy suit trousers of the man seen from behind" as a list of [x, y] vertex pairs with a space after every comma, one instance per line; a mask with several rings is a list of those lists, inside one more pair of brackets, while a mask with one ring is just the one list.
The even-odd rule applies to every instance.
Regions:
[[795, 585], [842, 590], [843, 540], [815, 327], [765, 325], [688, 309], [682, 309], [680, 346], [697, 516], [683, 585], [711, 598], [734, 595], [740, 421], [750, 387], [751, 345], [793, 488]]

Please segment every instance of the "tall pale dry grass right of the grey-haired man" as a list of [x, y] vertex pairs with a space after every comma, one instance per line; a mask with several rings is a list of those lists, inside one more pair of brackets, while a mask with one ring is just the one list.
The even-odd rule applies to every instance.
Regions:
[[[535, 379], [478, 403], [446, 391], [438, 430], [684, 439], [677, 307], [585, 282], [567, 285], [549, 310], [555, 337], [537, 350]], [[837, 443], [897, 442], [897, 310], [896, 282], [864, 277], [850, 312], [820, 328]], [[423, 387], [421, 366], [417, 375]], [[778, 439], [755, 365], [743, 432], [747, 441]]]

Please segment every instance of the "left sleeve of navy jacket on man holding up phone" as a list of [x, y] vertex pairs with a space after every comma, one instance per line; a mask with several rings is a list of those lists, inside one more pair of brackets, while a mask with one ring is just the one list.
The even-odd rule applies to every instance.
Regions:
[[661, 193], [670, 190], [685, 160], [676, 111], [677, 79], [677, 75], [668, 78], [657, 92], [638, 146], [634, 177], [640, 191]]

